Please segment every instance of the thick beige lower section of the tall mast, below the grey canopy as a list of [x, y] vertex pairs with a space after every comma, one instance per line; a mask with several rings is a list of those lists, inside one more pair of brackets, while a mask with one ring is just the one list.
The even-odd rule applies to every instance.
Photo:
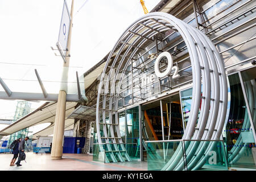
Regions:
[[51, 151], [52, 160], [61, 159], [63, 154], [66, 95], [67, 94], [65, 91], [60, 90], [58, 102], [57, 102], [55, 126], [54, 126], [53, 139], [52, 139], [52, 151]]

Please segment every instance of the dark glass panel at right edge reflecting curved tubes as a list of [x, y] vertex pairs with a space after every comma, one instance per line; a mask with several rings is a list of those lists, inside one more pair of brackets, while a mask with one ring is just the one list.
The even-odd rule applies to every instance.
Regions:
[[230, 167], [256, 168], [255, 71], [252, 68], [228, 76], [230, 109], [224, 132]]

